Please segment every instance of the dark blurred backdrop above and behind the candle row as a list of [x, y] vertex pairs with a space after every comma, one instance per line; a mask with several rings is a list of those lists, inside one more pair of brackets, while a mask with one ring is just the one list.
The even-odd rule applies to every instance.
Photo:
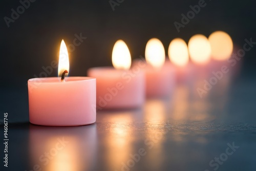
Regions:
[[[256, 41], [254, 1], [206, 0], [205, 3], [178, 32], [174, 22], [181, 23], [181, 14], [186, 15], [191, 10], [189, 6], [197, 5], [198, 1], [125, 0], [113, 11], [108, 0], [37, 0], [9, 28], [4, 17], [11, 17], [11, 9], [17, 11], [21, 4], [2, 1], [1, 112], [28, 113], [27, 80], [39, 76], [44, 72], [42, 67], [58, 60], [61, 39], [67, 45], [72, 44], [75, 34], [81, 33], [87, 39], [70, 52], [70, 76], [86, 76], [90, 67], [111, 66], [117, 39], [126, 42], [133, 59], [144, 56], [146, 42], [152, 37], [163, 42], [166, 54], [169, 42], [176, 37], [188, 42], [195, 34], [208, 37], [217, 30], [227, 32], [240, 48], [245, 38]], [[252, 48], [243, 57], [241, 78], [255, 79], [255, 54], [256, 48]], [[48, 76], [57, 76], [57, 69]]]

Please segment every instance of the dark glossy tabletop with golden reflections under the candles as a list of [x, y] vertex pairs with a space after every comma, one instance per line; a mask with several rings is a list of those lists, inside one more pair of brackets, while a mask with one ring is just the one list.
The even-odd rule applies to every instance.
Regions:
[[203, 98], [199, 84], [141, 109], [97, 111], [91, 125], [10, 122], [1, 170], [255, 170], [256, 82], [222, 79]]

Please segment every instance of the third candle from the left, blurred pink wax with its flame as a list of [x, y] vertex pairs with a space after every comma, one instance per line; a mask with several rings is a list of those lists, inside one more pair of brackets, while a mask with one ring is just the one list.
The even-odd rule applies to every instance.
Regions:
[[168, 97], [174, 89], [175, 74], [174, 69], [165, 62], [164, 47], [159, 39], [147, 41], [145, 58], [146, 96]]

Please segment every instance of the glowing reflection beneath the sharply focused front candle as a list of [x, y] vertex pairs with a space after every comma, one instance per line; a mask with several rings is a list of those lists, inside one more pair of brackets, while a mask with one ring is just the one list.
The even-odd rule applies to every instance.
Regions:
[[96, 125], [30, 125], [30, 167], [42, 170], [87, 170], [94, 167]]

